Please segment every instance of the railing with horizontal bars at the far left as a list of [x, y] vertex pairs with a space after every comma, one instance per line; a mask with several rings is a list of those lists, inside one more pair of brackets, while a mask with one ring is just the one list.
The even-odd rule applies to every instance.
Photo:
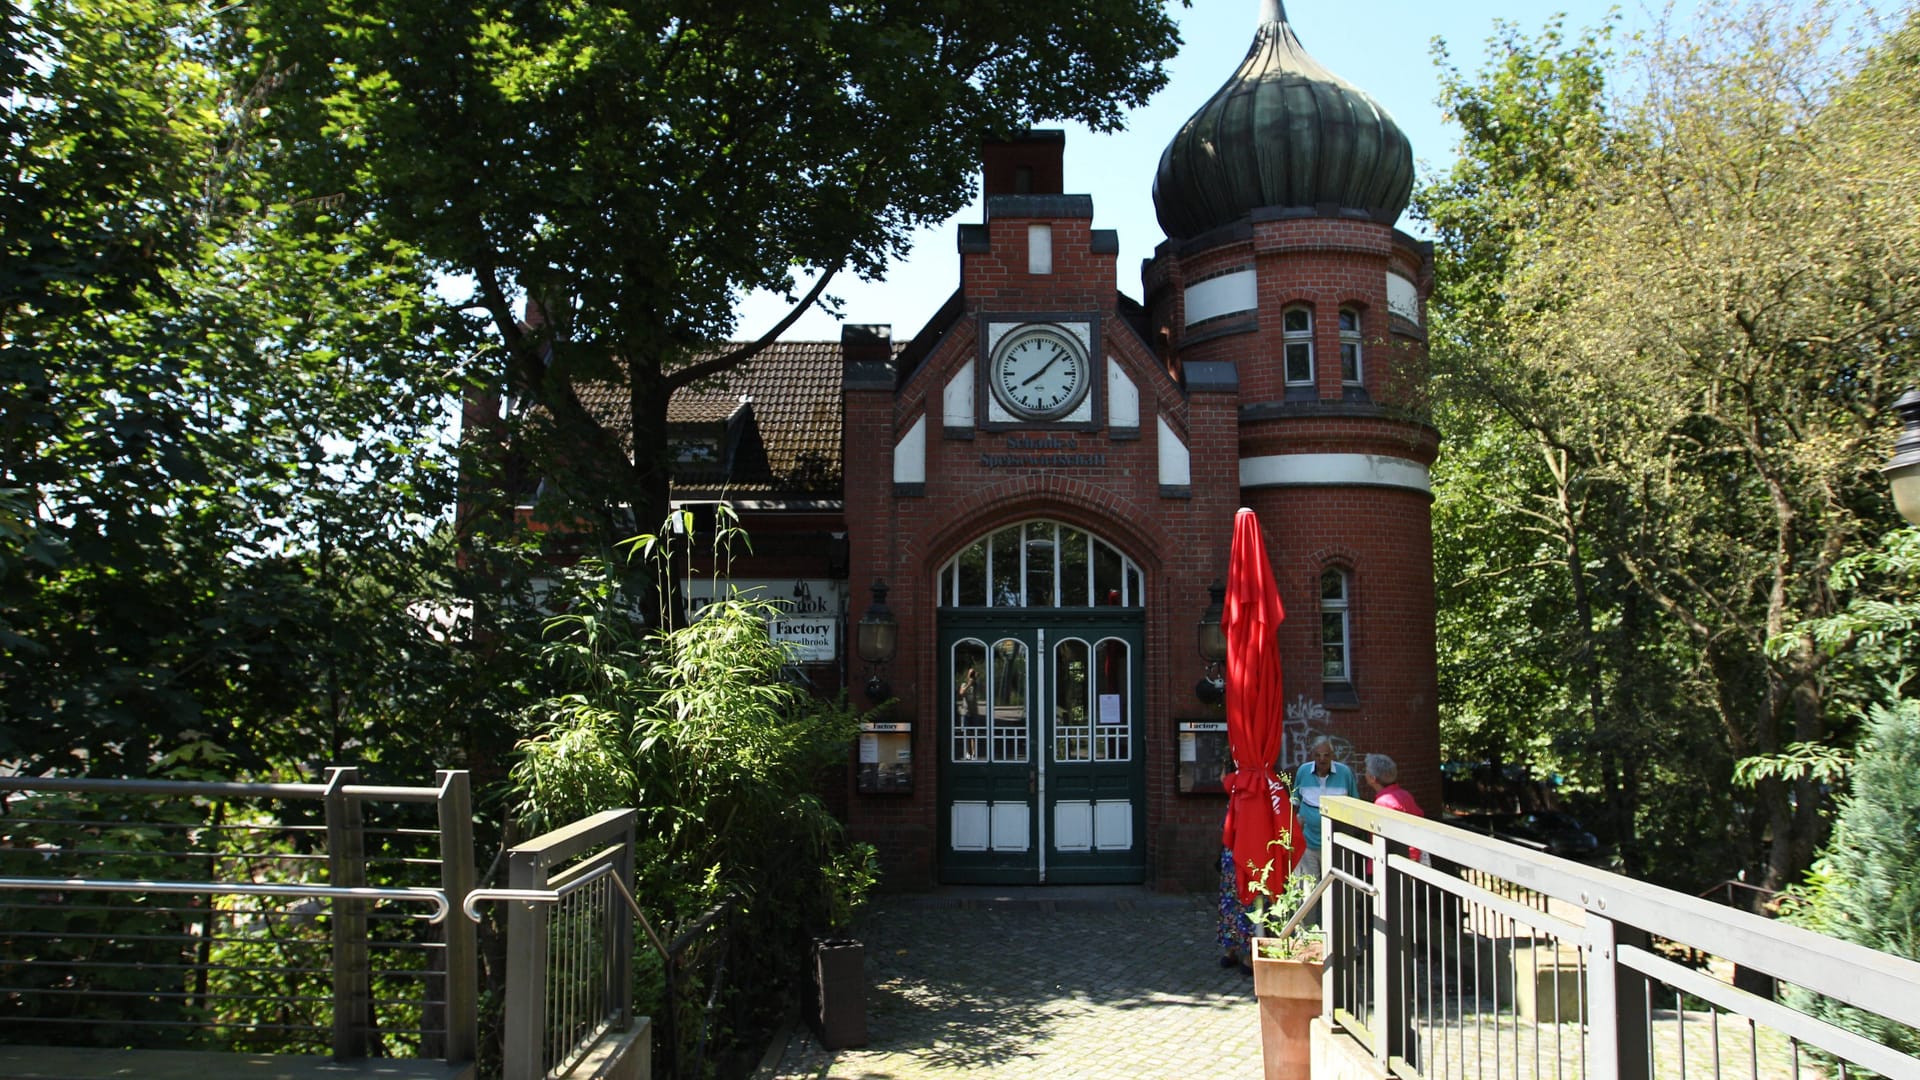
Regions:
[[468, 1063], [472, 884], [459, 771], [0, 776], [0, 1040]]

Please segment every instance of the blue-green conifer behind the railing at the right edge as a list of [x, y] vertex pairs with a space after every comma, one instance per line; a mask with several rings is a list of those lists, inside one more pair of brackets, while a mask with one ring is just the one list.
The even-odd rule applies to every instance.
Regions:
[[[1780, 915], [1832, 938], [1920, 959], [1920, 700], [1870, 709], [1834, 838]], [[1895, 1020], [1793, 986], [1784, 994], [1795, 1009], [1901, 1053], [1920, 1053], [1920, 1032]]]

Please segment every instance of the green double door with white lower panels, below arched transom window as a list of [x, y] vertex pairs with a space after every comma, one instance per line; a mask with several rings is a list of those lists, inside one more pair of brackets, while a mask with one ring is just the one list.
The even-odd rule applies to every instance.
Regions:
[[1146, 880], [1142, 615], [941, 615], [939, 872]]

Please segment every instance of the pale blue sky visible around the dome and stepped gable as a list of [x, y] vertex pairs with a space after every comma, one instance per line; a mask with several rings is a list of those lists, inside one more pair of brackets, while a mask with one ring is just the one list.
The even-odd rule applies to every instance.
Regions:
[[[1676, 2], [1682, 12], [1695, 4]], [[1413, 156], [1427, 169], [1444, 169], [1453, 158], [1457, 133], [1444, 123], [1434, 104], [1438, 77], [1430, 56], [1434, 37], [1446, 38], [1453, 63], [1478, 71], [1486, 38], [1496, 19], [1517, 23], [1532, 37], [1555, 12], [1565, 12], [1571, 31], [1599, 25], [1609, 0], [1563, 0], [1549, 4], [1494, 0], [1288, 0], [1286, 15], [1302, 44], [1327, 69], [1367, 90], [1400, 123], [1413, 142]], [[1619, 4], [1620, 37], [1647, 27], [1657, 13], [1640, 4]], [[1167, 86], [1127, 119], [1127, 131], [1092, 135], [1064, 125], [1066, 190], [1091, 194], [1094, 229], [1119, 233], [1121, 292], [1140, 298], [1140, 261], [1165, 234], [1154, 219], [1154, 167], [1179, 125], [1194, 113], [1246, 56], [1254, 38], [1260, 0], [1194, 0], [1173, 10], [1181, 23], [1181, 54], [1169, 65]], [[910, 338], [941, 302], [952, 294], [960, 256], [954, 252], [960, 223], [981, 219], [975, 200], [950, 221], [924, 229], [902, 263], [887, 281], [870, 284], [835, 281], [829, 292], [847, 300], [847, 321], [891, 323], [895, 338]], [[1402, 229], [1419, 233], [1405, 217]], [[766, 332], [785, 306], [778, 298], [749, 298], [741, 306], [741, 338]], [[789, 340], [839, 340], [839, 325], [822, 311], [810, 311], [785, 334]]]

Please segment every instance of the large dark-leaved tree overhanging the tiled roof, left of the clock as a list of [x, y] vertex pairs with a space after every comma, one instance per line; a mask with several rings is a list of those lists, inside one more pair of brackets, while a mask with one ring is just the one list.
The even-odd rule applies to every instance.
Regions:
[[[1114, 129], [1165, 81], [1152, 0], [348, 4], [236, 13], [282, 83], [288, 183], [336, 198], [472, 288], [513, 432], [601, 548], [666, 515], [666, 404], [751, 359], [964, 206], [987, 136]], [[797, 290], [758, 342], [753, 288]], [[520, 321], [516, 298], [534, 300]], [[618, 417], [584, 382], [609, 382]]]

